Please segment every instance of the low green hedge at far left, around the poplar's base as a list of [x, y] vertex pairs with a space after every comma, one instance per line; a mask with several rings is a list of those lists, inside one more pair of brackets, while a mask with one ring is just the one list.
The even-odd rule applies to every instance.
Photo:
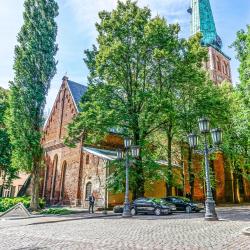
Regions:
[[[19, 202], [22, 202], [26, 208], [29, 208], [30, 200], [31, 197], [0, 198], [0, 212], [5, 212]], [[39, 199], [39, 206], [41, 209], [45, 208], [45, 201], [43, 199]]]

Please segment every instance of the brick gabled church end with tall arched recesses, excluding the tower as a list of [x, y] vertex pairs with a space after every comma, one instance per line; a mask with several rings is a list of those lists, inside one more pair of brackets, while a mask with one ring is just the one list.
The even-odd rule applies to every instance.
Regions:
[[[79, 102], [87, 87], [63, 77], [50, 116], [44, 126], [42, 145], [46, 167], [43, 175], [42, 195], [51, 204], [86, 205], [94, 191], [97, 205], [119, 203], [122, 195], [112, 200], [105, 189], [106, 164], [116, 158], [112, 149], [122, 143], [115, 134], [103, 143], [103, 149], [85, 147], [79, 142], [75, 148], [63, 144], [66, 126], [79, 112]], [[119, 200], [120, 199], [120, 200]]]

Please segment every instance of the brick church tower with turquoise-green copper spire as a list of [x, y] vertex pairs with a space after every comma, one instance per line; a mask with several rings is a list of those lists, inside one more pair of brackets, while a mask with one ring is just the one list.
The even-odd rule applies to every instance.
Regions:
[[208, 48], [209, 59], [205, 68], [211, 80], [219, 85], [224, 80], [232, 82], [230, 58], [222, 52], [222, 41], [216, 31], [209, 0], [191, 0], [188, 9], [191, 14], [191, 35], [200, 32], [201, 44]]

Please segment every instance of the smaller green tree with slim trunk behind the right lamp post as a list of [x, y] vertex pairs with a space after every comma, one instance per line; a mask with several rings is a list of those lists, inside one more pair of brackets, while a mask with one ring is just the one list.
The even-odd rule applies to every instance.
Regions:
[[182, 163], [184, 164], [184, 161], [187, 160], [187, 177], [191, 197], [194, 194], [195, 177], [199, 177], [200, 173], [194, 169], [193, 159], [197, 156], [193, 155], [191, 148], [188, 146], [187, 135], [191, 132], [198, 132], [199, 118], [209, 117], [213, 127], [221, 127], [228, 121], [229, 114], [229, 102], [223, 98], [223, 91], [208, 79], [204, 70], [202, 71], [196, 73], [196, 79], [194, 78], [195, 75], [193, 75], [193, 78], [187, 77], [186, 83], [180, 90], [177, 133], [175, 135], [175, 140], [180, 145]]

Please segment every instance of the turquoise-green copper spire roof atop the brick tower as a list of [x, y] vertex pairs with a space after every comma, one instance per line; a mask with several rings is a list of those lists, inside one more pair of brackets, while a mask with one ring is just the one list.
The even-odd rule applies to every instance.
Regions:
[[191, 35], [201, 32], [203, 35], [202, 45], [211, 45], [221, 50], [222, 41], [216, 31], [210, 1], [191, 0], [191, 6], [188, 12], [192, 15]]

